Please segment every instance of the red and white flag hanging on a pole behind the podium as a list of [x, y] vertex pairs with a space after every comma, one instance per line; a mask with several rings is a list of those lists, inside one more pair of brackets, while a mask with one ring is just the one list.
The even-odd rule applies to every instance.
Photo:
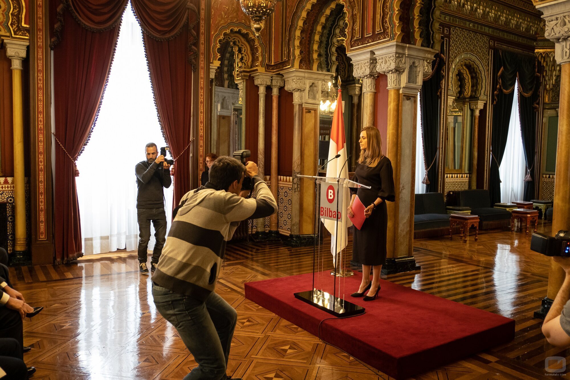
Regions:
[[[332, 116], [331, 142], [328, 146], [328, 159], [332, 159], [332, 157], [336, 156], [337, 154], [340, 154], [340, 157], [332, 160], [327, 164], [327, 177], [340, 177], [348, 179], [347, 144], [344, 134], [343, 98], [341, 96], [339, 87], [339, 95], [336, 99], [335, 113]], [[342, 188], [342, 186], [340, 186], [340, 188]], [[335, 223], [334, 220], [323, 219], [324, 227], [327, 228], [328, 232], [330, 232], [332, 235], [331, 253], [333, 260], [335, 260], [336, 257], [335, 252], [339, 253], [341, 250], [347, 247], [348, 228], [352, 225], [350, 219], [347, 217], [347, 208], [350, 204], [351, 196], [348, 188], [345, 188], [344, 190], [345, 191], [343, 191], [341, 194], [341, 199], [339, 199], [339, 203], [343, 205], [343, 207], [339, 208], [339, 211], [341, 213], [339, 223]]]

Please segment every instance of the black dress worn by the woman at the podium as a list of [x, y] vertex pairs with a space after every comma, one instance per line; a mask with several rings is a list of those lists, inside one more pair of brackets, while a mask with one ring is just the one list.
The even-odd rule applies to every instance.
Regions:
[[386, 262], [388, 229], [386, 201], [393, 202], [395, 199], [392, 163], [384, 156], [373, 168], [359, 164], [352, 180], [370, 186], [369, 189], [361, 187], [356, 191], [364, 207], [368, 207], [377, 198], [382, 199], [382, 203], [364, 221], [362, 228], [353, 228], [352, 260], [364, 265], [383, 265]]

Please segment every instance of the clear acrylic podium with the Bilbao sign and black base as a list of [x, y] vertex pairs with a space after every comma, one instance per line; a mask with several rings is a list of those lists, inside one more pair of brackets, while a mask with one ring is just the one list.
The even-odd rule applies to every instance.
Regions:
[[[346, 214], [351, 199], [350, 188], [364, 187], [369, 189], [370, 187], [346, 178], [305, 175], [299, 175], [299, 177], [315, 183], [315, 244], [313, 246], [312, 289], [294, 293], [295, 298], [336, 317], [348, 317], [364, 313], [362, 306], [344, 300], [344, 277], [347, 276], [348, 271], [344, 268], [343, 250], [341, 249], [339, 252], [339, 249], [334, 249], [335, 254], [332, 254], [333, 249], [321, 247], [320, 223], [323, 220], [323, 223], [327, 223], [329, 227], [334, 229], [336, 232], [335, 236], [332, 236], [333, 240], [335, 240], [334, 247], [339, 246], [339, 235], [340, 239], [343, 239], [341, 227], [345, 226], [345, 223], [348, 221]], [[343, 241], [340, 241], [340, 246], [344, 245], [343, 243]], [[327, 254], [333, 256], [334, 269], [331, 271], [331, 274], [334, 277], [323, 274], [323, 271], [327, 270], [327, 268], [324, 268], [324, 258]], [[333, 282], [332, 293], [322, 290], [324, 282], [330, 284], [330, 281]]]

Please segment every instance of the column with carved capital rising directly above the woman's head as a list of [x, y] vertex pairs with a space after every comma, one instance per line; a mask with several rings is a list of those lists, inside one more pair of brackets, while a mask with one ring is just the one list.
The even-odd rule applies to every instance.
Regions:
[[372, 51], [349, 54], [352, 59], [353, 75], [362, 79], [362, 128], [373, 127], [376, 112], [376, 58]]

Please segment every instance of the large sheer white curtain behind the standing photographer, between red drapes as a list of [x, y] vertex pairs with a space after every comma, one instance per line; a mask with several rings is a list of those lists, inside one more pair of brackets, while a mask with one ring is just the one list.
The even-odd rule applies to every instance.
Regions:
[[[145, 160], [149, 142], [156, 143], [158, 149], [166, 146], [154, 106], [141, 28], [129, 3], [99, 118], [78, 160], [84, 254], [137, 249], [135, 164]], [[168, 228], [172, 188], [164, 191]], [[154, 230], [151, 232], [154, 235]], [[153, 247], [154, 237], [148, 249]]]

